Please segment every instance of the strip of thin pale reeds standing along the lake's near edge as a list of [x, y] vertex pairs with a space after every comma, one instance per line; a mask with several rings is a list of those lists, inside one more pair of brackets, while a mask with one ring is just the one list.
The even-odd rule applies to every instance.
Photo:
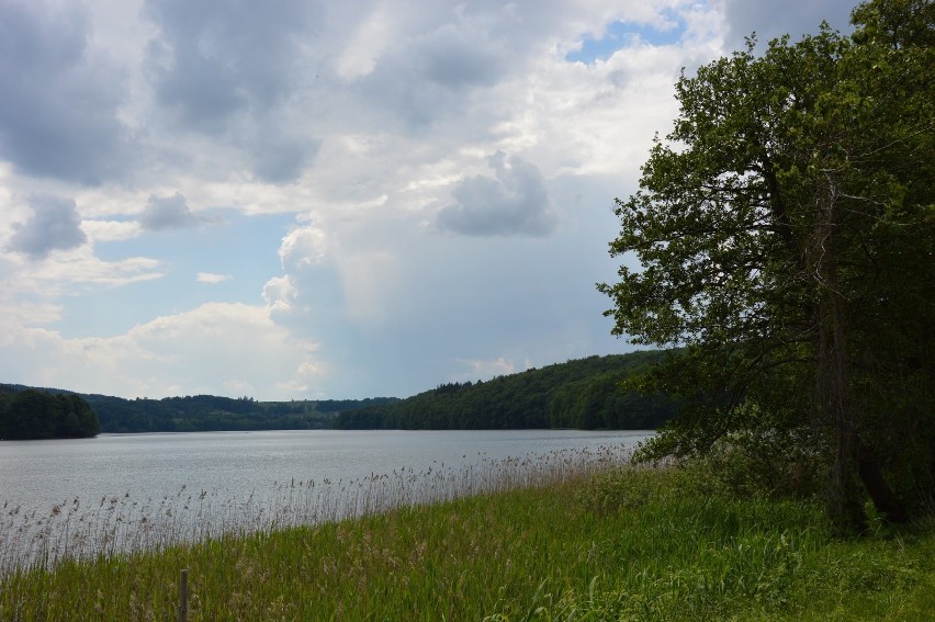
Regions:
[[[629, 460], [622, 446], [564, 450], [493, 460], [477, 454], [453, 467], [402, 468], [354, 479], [290, 479], [268, 490], [201, 490], [136, 499], [129, 493], [88, 505], [64, 499], [41, 514], [4, 502], [0, 516], [0, 576], [137, 551], [312, 525], [437, 504], [478, 494], [547, 486], [604, 472]], [[466, 455], [464, 459], [466, 460]]]

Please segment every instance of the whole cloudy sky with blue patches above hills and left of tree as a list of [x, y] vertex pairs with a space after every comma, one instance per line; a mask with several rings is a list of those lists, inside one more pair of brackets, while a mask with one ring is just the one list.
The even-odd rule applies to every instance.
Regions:
[[407, 397], [635, 347], [674, 82], [854, 0], [0, 0], [0, 383]]

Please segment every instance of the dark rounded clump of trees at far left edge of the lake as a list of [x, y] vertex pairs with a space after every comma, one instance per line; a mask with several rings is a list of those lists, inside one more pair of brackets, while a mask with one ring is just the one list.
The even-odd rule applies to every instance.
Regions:
[[101, 431], [98, 415], [79, 395], [0, 386], [0, 439], [80, 439]]

